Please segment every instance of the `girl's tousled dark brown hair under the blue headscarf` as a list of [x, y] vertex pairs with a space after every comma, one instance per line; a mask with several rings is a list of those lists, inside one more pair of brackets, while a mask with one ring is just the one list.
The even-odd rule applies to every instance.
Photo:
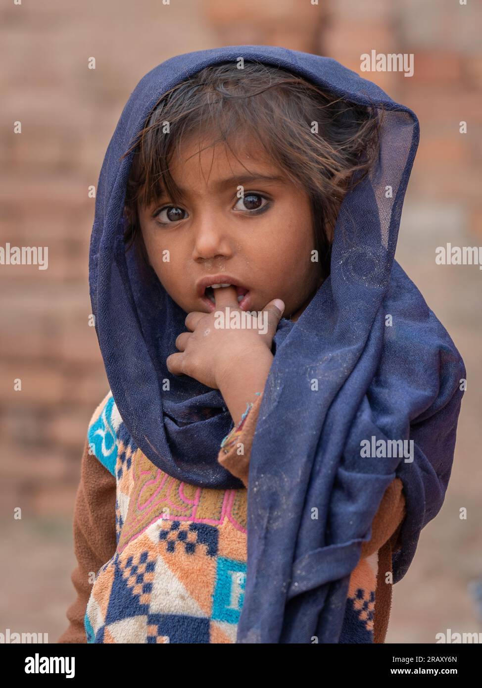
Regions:
[[308, 193], [314, 248], [325, 278], [340, 204], [369, 173], [378, 155], [379, 129], [375, 107], [349, 103], [285, 69], [257, 62], [245, 62], [243, 69], [235, 62], [210, 65], [160, 98], [122, 155], [134, 151], [125, 198], [127, 249], [135, 243], [146, 258], [138, 203], [150, 206], [162, 190], [173, 203], [180, 199], [169, 164], [184, 136], [197, 134], [201, 140], [209, 133], [211, 144], [230, 146], [242, 144], [248, 131]]

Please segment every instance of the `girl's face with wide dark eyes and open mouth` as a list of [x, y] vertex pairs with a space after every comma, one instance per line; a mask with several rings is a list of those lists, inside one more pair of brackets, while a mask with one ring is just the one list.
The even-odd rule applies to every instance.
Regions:
[[252, 139], [237, 155], [223, 143], [199, 152], [203, 147], [197, 140], [183, 142], [171, 162], [173, 179], [184, 191], [182, 203], [163, 195], [138, 208], [157, 277], [186, 313], [215, 310], [198, 282], [206, 277], [208, 284], [219, 283], [223, 275], [229, 279], [221, 283], [248, 290], [241, 310], [263, 310], [272, 299], [283, 299], [283, 316], [298, 319], [322, 283], [319, 263], [311, 261], [307, 193], [256, 150]]

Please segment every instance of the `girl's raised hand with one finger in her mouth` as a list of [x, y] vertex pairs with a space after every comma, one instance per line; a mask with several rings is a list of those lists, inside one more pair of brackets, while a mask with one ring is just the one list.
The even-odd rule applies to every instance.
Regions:
[[[248, 369], [258, 358], [267, 358], [267, 354], [272, 357], [272, 341], [283, 313], [270, 301], [261, 317], [253, 318], [250, 312], [239, 308], [237, 289], [233, 286], [219, 287], [214, 295], [215, 311], [188, 314], [186, 327], [191, 332], [182, 332], [175, 342], [182, 353], [168, 356], [166, 365], [175, 375], [188, 375], [207, 387], [219, 389], [233, 367]], [[240, 314], [240, 326], [233, 329], [233, 325], [229, 327], [228, 314], [234, 311]], [[224, 315], [224, 326], [216, 327], [220, 313]]]

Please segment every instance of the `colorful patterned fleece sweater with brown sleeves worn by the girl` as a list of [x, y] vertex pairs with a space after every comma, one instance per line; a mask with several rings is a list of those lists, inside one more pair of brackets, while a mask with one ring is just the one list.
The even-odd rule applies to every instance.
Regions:
[[[245, 486], [262, 398], [218, 455]], [[405, 515], [402, 487], [395, 478], [386, 489], [351, 573], [340, 643], [384, 642], [387, 574]], [[199, 488], [157, 469], [133, 444], [109, 391], [85, 442], [74, 510], [77, 599], [58, 643], [234, 643], [245, 588], [247, 494], [245, 487]]]

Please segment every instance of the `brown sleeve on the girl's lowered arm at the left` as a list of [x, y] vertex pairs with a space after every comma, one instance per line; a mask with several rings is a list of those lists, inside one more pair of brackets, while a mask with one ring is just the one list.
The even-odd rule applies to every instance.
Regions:
[[67, 610], [70, 625], [57, 643], [87, 643], [84, 616], [92, 584], [89, 574], [97, 574], [116, 552], [116, 478], [89, 454], [85, 440], [80, 484], [74, 508], [74, 551], [78, 562], [72, 573], [77, 599]]

